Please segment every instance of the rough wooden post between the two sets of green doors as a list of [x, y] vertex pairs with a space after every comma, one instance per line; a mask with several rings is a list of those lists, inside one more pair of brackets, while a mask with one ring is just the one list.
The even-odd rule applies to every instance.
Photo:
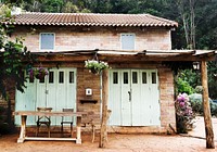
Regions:
[[107, 137], [107, 100], [108, 100], [108, 71], [103, 71], [103, 85], [102, 85], [102, 121], [100, 130], [100, 148], [105, 148], [106, 137]]

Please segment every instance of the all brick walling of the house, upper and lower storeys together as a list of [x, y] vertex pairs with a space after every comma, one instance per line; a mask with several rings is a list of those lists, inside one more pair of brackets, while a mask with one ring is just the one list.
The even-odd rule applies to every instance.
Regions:
[[[168, 29], [146, 28], [84, 28], [84, 27], [17, 27], [15, 36], [25, 38], [25, 45], [30, 51], [39, 51], [39, 34], [55, 33], [55, 51], [71, 51], [82, 49], [120, 49], [120, 34], [136, 34], [136, 49], [170, 49], [170, 31]], [[58, 29], [58, 30], [56, 30]], [[78, 56], [79, 58], [79, 56]], [[91, 59], [92, 56], [90, 56]], [[110, 61], [108, 61], [110, 62]], [[52, 64], [52, 63], [51, 63]], [[43, 64], [47, 65], [47, 64]], [[54, 65], [54, 64], [53, 64]], [[100, 76], [93, 75], [84, 68], [82, 63], [61, 63], [63, 67], [77, 67], [77, 111], [86, 111], [100, 123]], [[157, 68], [159, 78], [161, 99], [161, 127], [110, 127], [110, 131], [118, 132], [166, 132], [169, 124], [176, 128], [174, 107], [174, 78], [169, 68], [164, 67], [158, 62], [149, 63], [119, 63], [112, 64], [113, 68]], [[85, 96], [85, 89], [93, 90], [92, 97]], [[95, 104], [81, 104], [82, 99], [98, 100]]]

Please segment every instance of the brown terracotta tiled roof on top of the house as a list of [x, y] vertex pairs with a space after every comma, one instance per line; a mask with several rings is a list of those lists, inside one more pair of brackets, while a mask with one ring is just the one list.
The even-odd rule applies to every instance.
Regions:
[[[9, 23], [8, 23], [9, 24]], [[178, 23], [150, 14], [22, 13], [14, 25], [177, 27]]]

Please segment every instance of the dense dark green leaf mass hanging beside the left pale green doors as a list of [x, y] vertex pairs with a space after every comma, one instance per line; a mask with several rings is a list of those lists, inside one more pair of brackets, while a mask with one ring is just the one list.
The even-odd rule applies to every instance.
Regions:
[[27, 68], [27, 64], [24, 61], [28, 61], [31, 64], [31, 56], [27, 49], [23, 46], [23, 42], [16, 39], [15, 42], [7, 41], [3, 46], [4, 52], [0, 54], [0, 89], [4, 99], [7, 99], [7, 84], [5, 79], [11, 79], [15, 83], [15, 87], [20, 91], [24, 91], [25, 79], [23, 77], [23, 71]]

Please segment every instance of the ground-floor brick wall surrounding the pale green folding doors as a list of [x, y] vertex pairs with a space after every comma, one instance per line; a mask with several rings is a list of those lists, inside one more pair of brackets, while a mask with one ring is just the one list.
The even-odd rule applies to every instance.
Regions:
[[[94, 119], [95, 124], [100, 124], [100, 76], [89, 73], [88, 69], [84, 68], [82, 63], [63, 63], [62, 67], [77, 67], [77, 111], [87, 112], [91, 118]], [[148, 127], [115, 127], [108, 128], [111, 132], [167, 132], [170, 131], [169, 124], [176, 129], [176, 117], [174, 106], [174, 77], [173, 72], [162, 66], [159, 63], [142, 63], [142, 64], [111, 64], [113, 68], [143, 68], [158, 71], [159, 79], [159, 101], [161, 101], [161, 126], [148, 126]], [[86, 97], [85, 89], [91, 88], [92, 96]], [[98, 100], [93, 103], [80, 103], [82, 99]], [[14, 101], [14, 100], [13, 100]], [[1, 102], [0, 102], [1, 103]], [[12, 102], [14, 105], [14, 102]], [[14, 106], [13, 106], [14, 110]]]

